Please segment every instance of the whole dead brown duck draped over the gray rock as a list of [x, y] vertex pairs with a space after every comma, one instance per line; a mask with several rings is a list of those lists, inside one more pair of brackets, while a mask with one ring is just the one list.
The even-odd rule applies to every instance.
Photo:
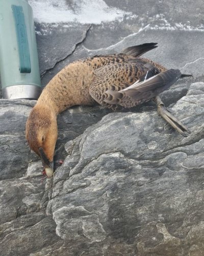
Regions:
[[169, 69], [141, 58], [156, 48], [148, 43], [124, 49], [119, 54], [96, 55], [70, 63], [42, 91], [26, 123], [25, 134], [31, 149], [40, 156], [47, 177], [53, 176], [53, 157], [58, 136], [57, 115], [73, 105], [100, 105], [115, 110], [131, 108], [154, 99], [159, 114], [187, 136], [185, 125], [170, 114], [158, 96], [177, 79], [180, 70]]

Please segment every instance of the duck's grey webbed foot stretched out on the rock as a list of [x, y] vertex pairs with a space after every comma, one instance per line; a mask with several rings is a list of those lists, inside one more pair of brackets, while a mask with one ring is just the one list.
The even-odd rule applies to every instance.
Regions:
[[155, 102], [157, 104], [157, 110], [160, 116], [162, 116], [177, 132], [187, 137], [191, 132], [187, 127], [180, 122], [176, 117], [174, 117], [164, 106], [161, 98], [159, 96], [155, 97]]

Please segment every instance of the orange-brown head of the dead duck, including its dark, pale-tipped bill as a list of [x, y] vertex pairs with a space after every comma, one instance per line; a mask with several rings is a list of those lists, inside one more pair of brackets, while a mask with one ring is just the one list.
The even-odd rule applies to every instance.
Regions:
[[25, 137], [31, 149], [41, 158], [47, 177], [53, 176], [53, 158], [58, 136], [56, 113], [36, 105], [25, 126]]

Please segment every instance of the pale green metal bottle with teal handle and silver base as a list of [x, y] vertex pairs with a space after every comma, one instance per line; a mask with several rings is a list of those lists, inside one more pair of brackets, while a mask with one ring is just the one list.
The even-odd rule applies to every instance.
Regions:
[[0, 72], [3, 98], [39, 97], [35, 27], [27, 0], [0, 0]]

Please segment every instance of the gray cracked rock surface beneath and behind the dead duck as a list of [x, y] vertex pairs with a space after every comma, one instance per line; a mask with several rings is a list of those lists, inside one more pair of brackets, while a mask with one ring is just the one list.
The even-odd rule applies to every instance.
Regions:
[[[29, 2], [33, 8], [49, 3], [56, 13], [61, 11], [57, 1]], [[75, 18], [83, 16], [83, 3], [60, 2]], [[146, 57], [194, 76], [161, 94], [191, 134], [177, 134], [158, 115], [154, 102], [115, 113], [77, 106], [58, 117], [56, 172], [46, 179], [24, 138], [36, 101], [0, 100], [0, 255], [201, 256], [202, 2], [94, 3], [122, 16], [97, 24], [80, 19], [47, 24], [38, 15], [52, 9], [43, 13], [41, 5], [34, 13], [43, 86], [75, 59], [156, 41], [159, 47]]]

